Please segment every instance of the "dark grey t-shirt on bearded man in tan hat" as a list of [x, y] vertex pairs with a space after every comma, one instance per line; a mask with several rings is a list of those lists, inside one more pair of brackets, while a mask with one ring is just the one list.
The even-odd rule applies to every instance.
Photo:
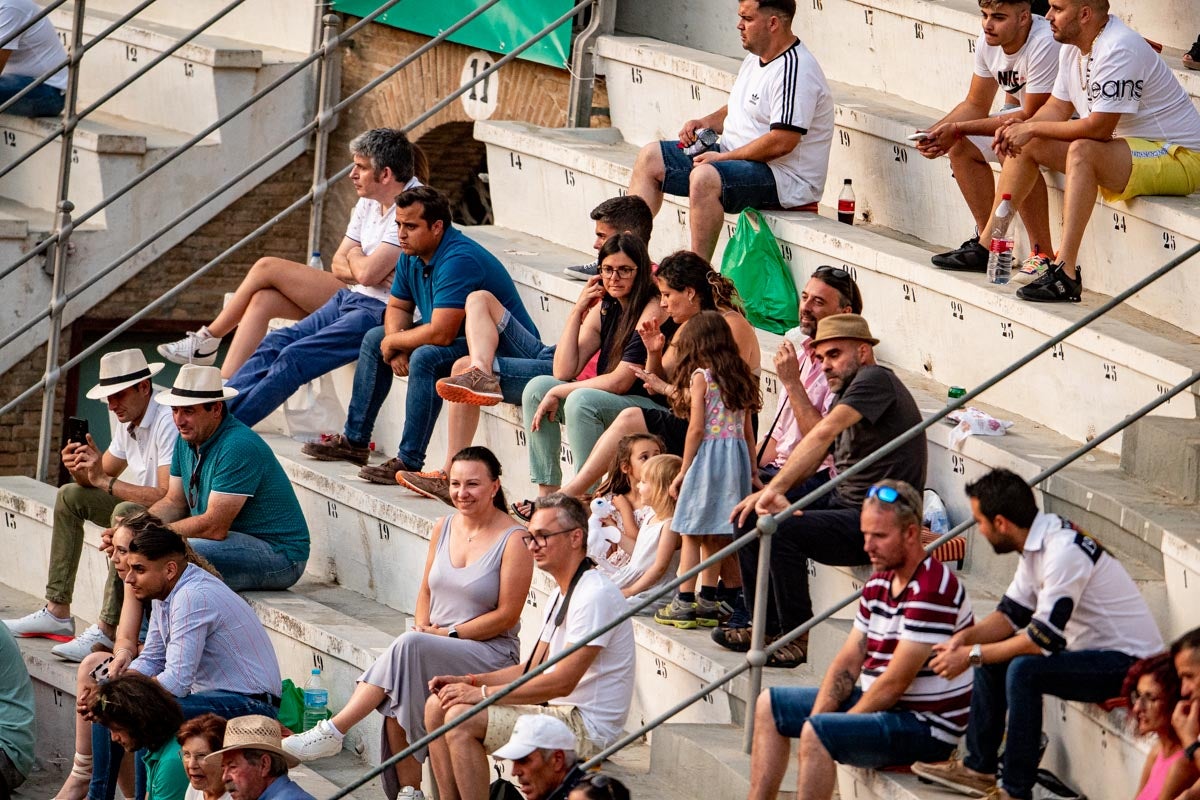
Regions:
[[[841, 404], [851, 407], [863, 419], [834, 439], [833, 457], [839, 473], [848, 470], [920, 422], [920, 411], [912, 395], [895, 373], [878, 365], [859, 368], [850, 385], [838, 395], [833, 408]], [[922, 433], [862, 473], [851, 475], [838, 487], [838, 499], [846, 505], [860, 506], [866, 499], [866, 491], [886, 477], [911, 483], [920, 492], [925, 488], [926, 458], [928, 445]]]

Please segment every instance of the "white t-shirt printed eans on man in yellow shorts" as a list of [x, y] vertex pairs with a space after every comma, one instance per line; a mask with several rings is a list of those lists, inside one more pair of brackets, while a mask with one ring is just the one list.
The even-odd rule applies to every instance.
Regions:
[[1188, 94], [1146, 40], [1112, 14], [1090, 55], [1062, 47], [1054, 96], [1072, 103], [1081, 118], [1121, 114], [1114, 137], [1200, 150], [1200, 114]]

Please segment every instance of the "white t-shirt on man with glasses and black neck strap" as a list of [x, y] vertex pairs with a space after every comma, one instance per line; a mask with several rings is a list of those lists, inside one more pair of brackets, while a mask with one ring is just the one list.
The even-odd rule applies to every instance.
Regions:
[[[588, 570], [580, 577], [566, 619], [554, 627], [553, 618], [560, 603], [562, 595], [554, 591], [540, 637], [550, 643], [550, 656], [562, 652], [568, 644], [582, 642], [588, 633], [617, 619], [626, 608], [617, 584], [596, 570]], [[590, 646], [601, 648], [600, 654], [580, 678], [575, 691], [550, 700], [550, 704], [577, 708], [588, 738], [596, 747], [604, 748], [620, 735], [634, 697], [634, 624], [625, 620], [590, 642]], [[553, 672], [554, 667], [550, 670]]]

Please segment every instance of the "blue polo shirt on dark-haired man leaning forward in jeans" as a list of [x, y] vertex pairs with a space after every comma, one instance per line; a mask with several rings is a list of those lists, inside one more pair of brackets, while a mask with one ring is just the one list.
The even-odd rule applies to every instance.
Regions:
[[479, 289], [491, 291], [522, 327], [541, 337], [504, 265], [454, 225], [446, 225], [428, 264], [415, 255], [401, 254], [391, 282], [391, 295], [415, 303], [426, 323], [434, 308], [463, 308], [467, 295]]

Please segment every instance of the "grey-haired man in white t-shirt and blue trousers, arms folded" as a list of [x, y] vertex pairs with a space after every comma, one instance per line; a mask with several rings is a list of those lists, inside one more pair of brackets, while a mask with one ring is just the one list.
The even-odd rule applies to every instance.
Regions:
[[[413, 148], [402, 131], [376, 128], [350, 143], [350, 173], [359, 201], [334, 257], [334, 275], [346, 288], [295, 325], [272, 331], [227, 385], [239, 395], [229, 413], [253, 427], [300, 386], [359, 359], [362, 337], [383, 324], [400, 239], [396, 197], [421, 186], [413, 175]], [[395, 158], [386, 166], [382, 156]], [[338, 265], [341, 264], [341, 270]], [[314, 271], [311, 267], [310, 272]]]

